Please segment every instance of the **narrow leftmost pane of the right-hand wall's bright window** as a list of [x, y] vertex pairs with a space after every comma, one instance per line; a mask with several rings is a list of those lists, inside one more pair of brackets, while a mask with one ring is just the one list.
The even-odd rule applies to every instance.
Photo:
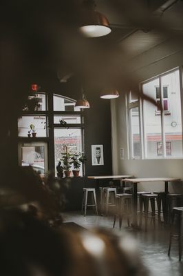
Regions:
[[131, 108], [130, 110], [131, 121], [131, 141], [132, 141], [132, 157], [141, 157], [141, 144], [140, 144], [140, 126], [139, 126], [139, 108]]

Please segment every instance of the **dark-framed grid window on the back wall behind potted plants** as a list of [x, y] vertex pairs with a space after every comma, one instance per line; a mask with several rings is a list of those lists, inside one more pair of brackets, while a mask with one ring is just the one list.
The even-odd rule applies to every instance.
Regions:
[[[34, 106], [30, 108], [29, 100], [32, 104], [32, 99]], [[53, 108], [48, 110], [47, 106], [51, 105], [45, 93], [29, 96], [22, 117], [18, 119], [19, 164], [32, 165], [42, 173], [47, 171], [47, 164], [56, 168], [65, 146], [70, 153], [83, 152], [83, 111], [75, 108], [75, 102], [61, 95], [53, 95]], [[52, 126], [50, 121], [53, 122]], [[61, 124], [61, 121], [65, 124]], [[28, 137], [31, 124], [36, 130], [36, 138], [32, 135]], [[53, 156], [48, 155], [48, 144], [54, 152], [54, 164]], [[49, 152], [52, 155], [51, 150]], [[83, 168], [80, 168], [80, 175], [83, 175]]]

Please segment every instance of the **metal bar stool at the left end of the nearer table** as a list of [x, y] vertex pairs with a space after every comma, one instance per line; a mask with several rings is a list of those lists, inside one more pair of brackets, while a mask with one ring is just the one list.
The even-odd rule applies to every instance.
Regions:
[[122, 217], [126, 216], [127, 217], [127, 223], [129, 226], [129, 217], [132, 216], [132, 197], [133, 195], [123, 193], [123, 194], [117, 194], [116, 195], [116, 205], [117, 205], [117, 212], [114, 215], [114, 224], [113, 228], [116, 224], [116, 217], [119, 217], [119, 225], [120, 229], [122, 226]]

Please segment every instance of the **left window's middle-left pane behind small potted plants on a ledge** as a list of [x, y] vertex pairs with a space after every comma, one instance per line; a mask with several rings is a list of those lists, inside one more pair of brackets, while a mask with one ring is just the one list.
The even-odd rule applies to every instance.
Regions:
[[36, 137], [47, 136], [45, 116], [22, 116], [18, 121], [19, 137], [28, 137], [30, 124], [35, 126]]

